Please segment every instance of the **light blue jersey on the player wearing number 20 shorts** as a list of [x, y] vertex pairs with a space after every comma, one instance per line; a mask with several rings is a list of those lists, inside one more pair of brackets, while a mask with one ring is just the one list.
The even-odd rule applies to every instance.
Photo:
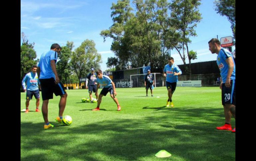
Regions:
[[219, 70], [220, 70], [222, 83], [225, 83], [226, 79], [227, 79], [228, 65], [227, 65], [226, 59], [228, 57], [231, 57], [232, 61], [234, 63], [234, 69], [232, 71], [230, 80], [235, 80], [236, 79], [236, 76], [235, 76], [236, 75], [236, 66], [235, 66], [234, 58], [233, 58], [231, 52], [228, 49], [221, 48], [220, 51], [219, 51], [219, 54], [217, 56], [217, 65], [218, 65]]

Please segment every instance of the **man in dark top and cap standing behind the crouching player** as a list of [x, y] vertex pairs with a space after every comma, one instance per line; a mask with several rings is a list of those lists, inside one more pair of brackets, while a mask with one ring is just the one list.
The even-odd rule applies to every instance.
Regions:
[[[97, 74], [94, 73], [94, 68], [91, 68], [91, 72], [87, 75], [86, 77], [86, 89], [88, 89], [89, 87], [89, 96], [90, 96], [90, 100], [92, 103], [92, 92], [96, 92], [97, 89], [97, 83], [96, 83], [96, 79], [97, 79]], [[89, 81], [89, 84], [88, 84]], [[96, 99], [98, 100], [98, 93], [95, 93]]]

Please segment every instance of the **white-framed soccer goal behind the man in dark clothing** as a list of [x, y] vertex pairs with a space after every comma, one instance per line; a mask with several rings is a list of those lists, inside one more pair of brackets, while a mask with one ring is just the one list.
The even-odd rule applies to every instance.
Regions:
[[[162, 73], [151, 73], [154, 76], [154, 87], [163, 86], [163, 74]], [[134, 74], [130, 75], [131, 88], [132, 87], [144, 87], [144, 79], [146, 74]]]

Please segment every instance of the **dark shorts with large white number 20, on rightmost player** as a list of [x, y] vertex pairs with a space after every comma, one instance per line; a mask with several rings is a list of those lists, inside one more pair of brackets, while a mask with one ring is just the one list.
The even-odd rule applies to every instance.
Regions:
[[221, 101], [222, 105], [225, 104], [235, 104], [235, 80], [230, 80], [230, 87], [225, 87], [225, 83], [222, 83], [222, 89], [221, 89]]

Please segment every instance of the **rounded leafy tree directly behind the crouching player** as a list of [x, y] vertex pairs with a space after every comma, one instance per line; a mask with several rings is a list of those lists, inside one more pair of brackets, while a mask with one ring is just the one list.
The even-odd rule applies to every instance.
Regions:
[[[101, 55], [97, 53], [93, 40], [84, 40], [81, 45], [74, 50], [71, 56], [72, 69], [78, 79], [85, 77], [91, 67], [99, 69], [99, 63], [101, 62]], [[79, 88], [80, 87], [81, 82], [79, 82]]]

